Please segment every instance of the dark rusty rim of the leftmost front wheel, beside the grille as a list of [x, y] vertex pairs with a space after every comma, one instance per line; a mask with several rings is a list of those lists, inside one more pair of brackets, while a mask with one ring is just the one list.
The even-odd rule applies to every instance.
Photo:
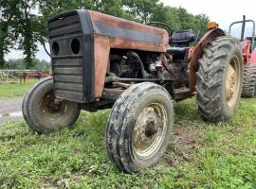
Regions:
[[46, 93], [40, 101], [39, 110], [45, 120], [55, 120], [64, 115], [67, 101], [56, 101], [53, 91]]

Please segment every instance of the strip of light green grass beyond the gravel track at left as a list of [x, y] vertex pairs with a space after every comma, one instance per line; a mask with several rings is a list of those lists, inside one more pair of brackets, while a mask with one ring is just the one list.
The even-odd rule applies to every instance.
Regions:
[[0, 98], [17, 97], [26, 94], [27, 90], [37, 79], [27, 79], [24, 83], [0, 84]]

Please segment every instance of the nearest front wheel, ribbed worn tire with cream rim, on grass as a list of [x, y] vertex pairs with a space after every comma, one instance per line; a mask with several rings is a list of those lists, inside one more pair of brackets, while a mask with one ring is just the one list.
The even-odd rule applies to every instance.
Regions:
[[127, 173], [151, 166], [166, 150], [173, 125], [170, 94], [155, 83], [133, 85], [119, 96], [108, 117], [107, 154]]

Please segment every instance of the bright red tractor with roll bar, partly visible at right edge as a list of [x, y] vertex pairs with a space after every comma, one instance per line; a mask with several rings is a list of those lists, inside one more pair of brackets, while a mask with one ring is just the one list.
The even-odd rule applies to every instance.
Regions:
[[[245, 40], [246, 24], [252, 24], [252, 34]], [[231, 28], [234, 25], [242, 24], [241, 30], [241, 45], [243, 47], [244, 57], [244, 82], [242, 89], [243, 97], [255, 97], [256, 96], [256, 43], [255, 43], [255, 22], [253, 20], [247, 20], [246, 16], [242, 21], [237, 21], [229, 26], [229, 36], [231, 35]]]

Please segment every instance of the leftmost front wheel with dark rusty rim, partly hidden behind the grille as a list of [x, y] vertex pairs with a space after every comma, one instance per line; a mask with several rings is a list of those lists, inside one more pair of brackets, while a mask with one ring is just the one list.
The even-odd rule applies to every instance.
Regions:
[[55, 102], [53, 79], [46, 77], [26, 94], [22, 112], [29, 128], [40, 133], [73, 125], [79, 115], [78, 104], [62, 100]]

